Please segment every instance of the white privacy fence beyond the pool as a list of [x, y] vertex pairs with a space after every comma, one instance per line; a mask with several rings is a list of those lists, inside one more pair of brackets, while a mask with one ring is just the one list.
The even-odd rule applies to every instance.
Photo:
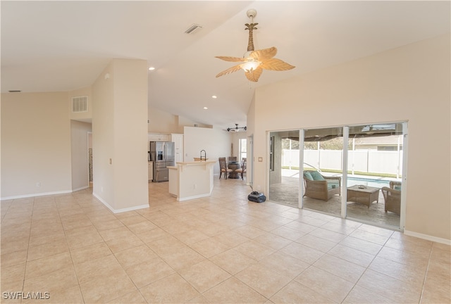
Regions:
[[[348, 151], [348, 171], [402, 175], [402, 151]], [[342, 171], [342, 151], [304, 150], [304, 163], [321, 170]], [[283, 149], [283, 167], [299, 167], [299, 150]]]

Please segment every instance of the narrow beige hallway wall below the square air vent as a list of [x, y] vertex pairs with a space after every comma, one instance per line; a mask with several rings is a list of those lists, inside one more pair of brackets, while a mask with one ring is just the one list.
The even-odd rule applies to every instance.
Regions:
[[90, 123], [70, 121], [72, 191], [89, 187], [88, 132], [91, 131]]

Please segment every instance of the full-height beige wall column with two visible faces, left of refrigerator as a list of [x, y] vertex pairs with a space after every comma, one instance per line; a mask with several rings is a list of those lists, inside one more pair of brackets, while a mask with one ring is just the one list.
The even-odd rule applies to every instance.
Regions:
[[114, 59], [92, 91], [93, 194], [114, 212], [147, 207], [147, 62]]

